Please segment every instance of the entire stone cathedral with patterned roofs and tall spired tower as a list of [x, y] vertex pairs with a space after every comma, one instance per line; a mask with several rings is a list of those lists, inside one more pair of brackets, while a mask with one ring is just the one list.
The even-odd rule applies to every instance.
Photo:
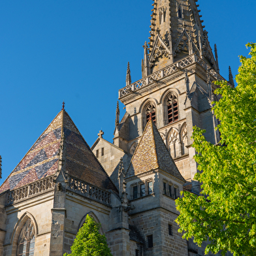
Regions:
[[0, 186], [0, 255], [70, 253], [88, 214], [114, 256], [204, 255], [174, 222], [180, 191], [200, 191], [193, 126], [219, 142], [213, 82], [225, 79], [198, 7], [153, 0], [142, 78], [131, 82], [128, 63], [112, 142], [100, 131], [89, 148], [63, 104]]

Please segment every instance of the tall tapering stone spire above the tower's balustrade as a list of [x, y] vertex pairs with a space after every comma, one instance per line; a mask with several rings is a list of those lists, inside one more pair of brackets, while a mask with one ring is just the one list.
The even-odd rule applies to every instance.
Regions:
[[207, 62], [217, 69], [197, 1], [153, 1], [148, 43], [150, 73], [191, 54], [207, 58]]

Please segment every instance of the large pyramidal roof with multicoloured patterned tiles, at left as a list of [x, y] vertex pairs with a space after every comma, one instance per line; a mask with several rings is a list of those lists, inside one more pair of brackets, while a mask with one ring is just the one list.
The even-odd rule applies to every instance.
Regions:
[[65, 172], [102, 189], [118, 192], [69, 114], [61, 110], [3, 182], [0, 193], [55, 174], [62, 131], [65, 135]]

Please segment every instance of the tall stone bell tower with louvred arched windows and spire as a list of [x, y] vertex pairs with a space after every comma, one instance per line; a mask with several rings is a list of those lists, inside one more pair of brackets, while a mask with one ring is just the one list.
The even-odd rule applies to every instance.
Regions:
[[[206, 129], [211, 143], [219, 142], [212, 111], [212, 101], [217, 100], [213, 82], [225, 79], [219, 74], [217, 46], [213, 53], [197, 0], [153, 0], [152, 6], [149, 42], [143, 45], [142, 79], [129, 79], [119, 90], [126, 107], [123, 142], [127, 146], [123, 150], [133, 155], [148, 116], [152, 116], [180, 173], [197, 192], [193, 126]], [[121, 124], [116, 129], [124, 131]]]

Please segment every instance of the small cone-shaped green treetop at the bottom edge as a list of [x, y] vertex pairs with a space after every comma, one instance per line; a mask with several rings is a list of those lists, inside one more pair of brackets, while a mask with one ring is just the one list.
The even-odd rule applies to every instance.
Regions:
[[86, 222], [79, 229], [71, 246], [71, 254], [64, 256], [112, 256], [106, 244], [106, 237], [100, 234], [101, 224], [96, 223], [91, 216], [86, 216]]

